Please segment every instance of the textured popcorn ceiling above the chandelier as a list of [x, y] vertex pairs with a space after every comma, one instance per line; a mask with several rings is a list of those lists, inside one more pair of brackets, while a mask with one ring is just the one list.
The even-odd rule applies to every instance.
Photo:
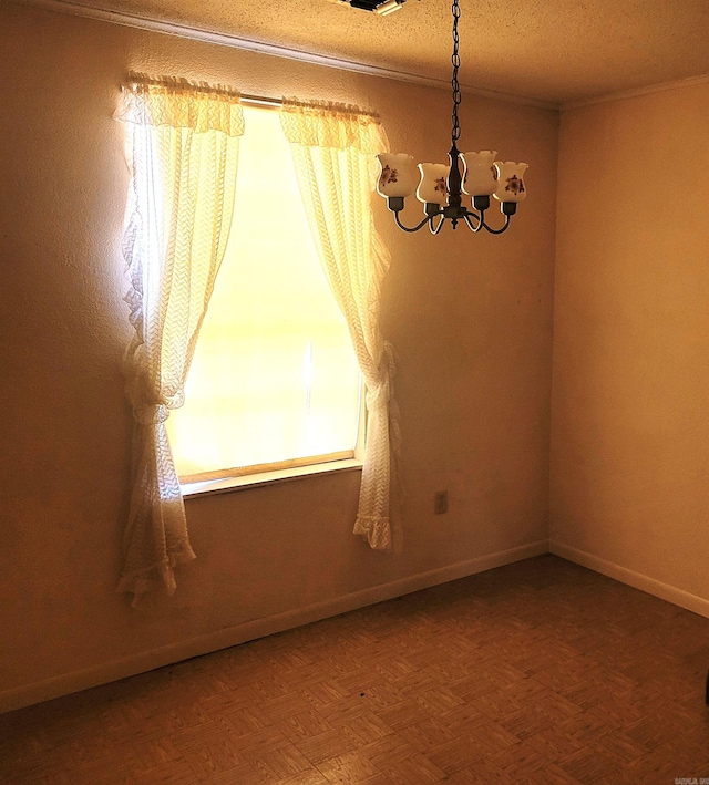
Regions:
[[[378, 17], [328, 0], [78, 0], [450, 80], [449, 0]], [[461, 83], [567, 103], [709, 74], [709, 0], [461, 0]]]

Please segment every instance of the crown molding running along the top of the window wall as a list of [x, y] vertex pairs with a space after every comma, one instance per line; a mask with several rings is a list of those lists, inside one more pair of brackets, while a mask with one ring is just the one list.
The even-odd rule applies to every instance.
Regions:
[[[423, 76], [422, 74], [408, 73], [405, 71], [395, 71], [392, 69], [380, 68], [379, 65], [368, 65], [367, 63], [358, 63], [350, 60], [340, 60], [325, 54], [315, 54], [312, 52], [302, 52], [298, 49], [289, 49], [288, 47], [279, 47], [277, 44], [267, 43], [265, 41], [255, 41], [250, 39], [230, 35], [229, 33], [220, 33], [214, 30], [204, 28], [195, 28], [188, 24], [179, 24], [167, 20], [154, 19], [151, 17], [142, 17], [132, 13], [123, 13], [120, 11], [109, 11], [101, 8], [83, 6], [81, 3], [68, 2], [66, 0], [12, 0], [19, 6], [30, 6], [41, 8], [47, 11], [56, 11], [58, 13], [70, 14], [72, 17], [83, 17], [84, 19], [93, 19], [122, 27], [135, 28], [137, 30], [148, 30], [151, 32], [164, 33], [167, 35], [176, 35], [192, 41], [203, 41], [214, 43], [219, 47], [230, 47], [232, 49], [243, 49], [248, 52], [258, 52], [260, 54], [269, 54], [275, 58], [286, 58], [288, 60], [298, 60], [300, 62], [312, 63], [330, 69], [339, 69], [340, 71], [353, 71], [369, 76], [380, 76], [390, 79], [397, 82], [409, 82], [411, 84], [421, 84], [427, 87], [436, 87], [450, 90], [451, 84], [443, 79], [433, 79]], [[523, 104], [525, 106], [534, 106], [536, 109], [546, 109], [558, 111], [559, 105], [551, 101], [538, 101], [528, 99], [522, 95], [511, 95], [508, 93], [499, 93], [495, 90], [485, 90], [483, 87], [473, 87], [470, 85], [461, 85], [461, 91], [471, 95], [480, 95], [495, 101], [504, 101], [506, 103]]]

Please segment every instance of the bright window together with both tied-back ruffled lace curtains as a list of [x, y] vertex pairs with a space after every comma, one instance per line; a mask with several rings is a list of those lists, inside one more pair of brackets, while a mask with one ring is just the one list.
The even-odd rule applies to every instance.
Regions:
[[[292, 462], [307, 462], [299, 472], [311, 472], [312, 462], [328, 455], [323, 450], [353, 452], [359, 406], [350, 404], [361, 396], [348, 331], [368, 386], [366, 471], [353, 531], [372, 548], [391, 548], [399, 423], [393, 348], [379, 327], [390, 256], [371, 213], [372, 156], [387, 148], [377, 116], [294, 99], [277, 118], [270, 115], [269, 128], [267, 115], [259, 123], [249, 112], [245, 187], [237, 189], [238, 221], [229, 231], [245, 125], [238, 94], [135, 75], [121, 97], [119, 117], [131, 128], [132, 149], [122, 251], [134, 328], [125, 389], [135, 450], [120, 590], [137, 599], [162, 583], [172, 593], [175, 566], [194, 558], [166, 422], [183, 482]], [[276, 120], [292, 145], [307, 215], [318, 248], [322, 244], [322, 277], [315, 276], [309, 236], [300, 234], [306, 221], [282, 223], [302, 207]], [[281, 209], [275, 209], [275, 192]], [[235, 246], [217, 277], [229, 237]], [[347, 329], [326, 295], [326, 277]], [[215, 282], [219, 296], [208, 308]], [[312, 293], [318, 286], [322, 298]], [[197, 341], [205, 318], [206, 338]], [[250, 342], [240, 345], [245, 335]], [[295, 360], [285, 352], [289, 345]], [[167, 420], [185, 386], [187, 409]], [[285, 417], [284, 409], [290, 413]]]

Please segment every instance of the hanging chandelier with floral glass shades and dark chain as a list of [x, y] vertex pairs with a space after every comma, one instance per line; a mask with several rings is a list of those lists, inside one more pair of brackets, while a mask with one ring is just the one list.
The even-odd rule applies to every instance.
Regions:
[[[381, 153], [381, 172], [377, 192], [387, 198], [387, 206], [394, 214], [397, 226], [404, 231], [418, 231], [427, 224], [431, 234], [438, 235], [446, 220], [453, 229], [459, 221], [465, 221], [472, 231], [485, 229], [491, 235], [501, 235], [510, 226], [516, 213], [517, 203], [526, 196], [524, 172], [526, 164], [513, 161], [495, 161], [496, 151], [483, 149], [480, 153], [461, 153], [455, 144], [461, 136], [458, 122], [458, 107], [461, 103], [461, 89], [458, 82], [458, 69], [461, 59], [458, 54], [458, 21], [461, 16], [459, 0], [453, 0], [453, 115], [451, 131], [450, 164], [419, 164], [421, 180], [417, 188], [417, 198], [423, 203], [424, 219], [417, 226], [408, 227], [401, 223], [399, 214], [403, 209], [404, 198], [413, 192], [413, 157], [407, 153]], [[463, 194], [471, 197], [473, 209], [463, 205]], [[490, 207], [490, 197], [500, 202], [500, 209], [505, 216], [504, 226], [493, 229], [485, 221], [485, 210]], [[438, 219], [438, 220], [436, 220]]]

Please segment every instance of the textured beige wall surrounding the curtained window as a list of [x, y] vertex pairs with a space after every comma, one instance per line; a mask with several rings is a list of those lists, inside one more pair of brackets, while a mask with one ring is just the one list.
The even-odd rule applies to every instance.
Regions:
[[[383, 329], [400, 355], [404, 552], [373, 552], [351, 535], [356, 473], [191, 499], [197, 561], [178, 570], [173, 599], [134, 611], [114, 591], [131, 414], [119, 252], [127, 171], [112, 114], [126, 72], [353, 102], [379, 111], [392, 147], [419, 161], [444, 158], [450, 97], [9, 3], [0, 62], [0, 706], [545, 543], [556, 113], [465, 96], [463, 146], [531, 164], [531, 198], [510, 234], [409, 237], [378, 204], [393, 254]], [[443, 488], [450, 512], [434, 517]]]

